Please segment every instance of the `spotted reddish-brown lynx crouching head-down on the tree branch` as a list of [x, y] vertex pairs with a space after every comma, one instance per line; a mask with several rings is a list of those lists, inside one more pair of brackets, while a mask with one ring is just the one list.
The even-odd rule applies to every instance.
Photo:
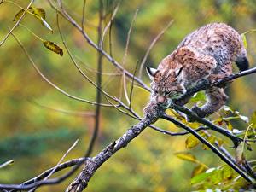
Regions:
[[[241, 36], [224, 23], [212, 23], [190, 33], [171, 55], [164, 58], [157, 69], [147, 67], [152, 79], [151, 103], [169, 108], [174, 100], [186, 94], [203, 80], [210, 83], [232, 73], [232, 62], [240, 71], [247, 70], [247, 51]], [[206, 90], [207, 103], [192, 110], [204, 118], [224, 106], [228, 96], [224, 87]], [[185, 105], [190, 97], [178, 102]]]

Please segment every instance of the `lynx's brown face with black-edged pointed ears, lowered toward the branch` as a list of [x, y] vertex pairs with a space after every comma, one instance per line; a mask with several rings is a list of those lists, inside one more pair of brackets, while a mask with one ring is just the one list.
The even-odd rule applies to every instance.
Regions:
[[169, 108], [172, 99], [177, 99], [185, 94], [186, 89], [182, 82], [183, 67], [172, 69], [166, 67], [163, 69], [154, 69], [147, 67], [147, 73], [152, 80], [151, 101], [156, 102], [163, 108]]

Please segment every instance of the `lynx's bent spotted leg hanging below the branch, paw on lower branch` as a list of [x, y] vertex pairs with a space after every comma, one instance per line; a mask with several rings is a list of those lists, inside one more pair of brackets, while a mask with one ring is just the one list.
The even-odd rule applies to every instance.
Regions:
[[225, 95], [224, 89], [218, 87], [212, 87], [209, 90], [206, 90], [207, 103], [201, 108], [195, 106], [192, 108], [199, 117], [204, 118], [214, 112], [217, 112], [228, 99], [228, 96]]

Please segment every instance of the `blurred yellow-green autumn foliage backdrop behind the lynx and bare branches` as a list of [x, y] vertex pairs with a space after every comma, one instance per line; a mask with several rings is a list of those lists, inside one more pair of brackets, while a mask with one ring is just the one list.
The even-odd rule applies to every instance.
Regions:
[[[26, 7], [29, 3], [27, 0], [14, 2], [22, 7]], [[67, 12], [80, 21], [83, 1], [66, 0], [63, 3]], [[34, 5], [46, 10], [46, 20], [52, 26], [54, 33], [51, 34], [31, 15], [26, 15], [21, 23], [39, 37], [54, 41], [63, 47], [56, 26], [55, 10], [43, 0], [36, 1]], [[174, 22], [150, 52], [148, 66], [157, 67], [160, 60], [170, 54], [189, 32], [207, 23], [225, 22], [240, 33], [256, 28], [254, 0], [124, 0], [113, 21], [113, 56], [117, 61], [121, 62], [125, 54], [127, 32], [136, 9], [138, 9], [137, 19], [131, 32], [125, 63], [125, 67], [130, 72], [133, 72], [137, 61], [142, 61], [151, 41], [170, 20]], [[0, 5], [1, 39], [8, 32], [8, 26], [14, 25], [13, 19], [19, 10], [11, 3]], [[97, 11], [97, 2], [88, 0], [85, 30], [95, 41]], [[66, 20], [61, 18], [60, 21], [67, 46], [79, 61], [79, 66], [91, 79], [96, 80], [95, 49], [92, 49]], [[74, 96], [96, 100], [96, 90], [81, 77], [66, 51], [62, 57], [49, 52], [37, 38], [22, 27], [15, 29], [15, 35], [26, 46], [46, 77]], [[106, 40], [108, 45], [108, 38]], [[256, 61], [255, 42], [256, 33], [247, 33], [247, 53], [251, 67], [254, 67]], [[108, 50], [108, 46], [106, 49]], [[104, 59], [103, 63], [104, 73], [116, 73], [108, 61]], [[237, 70], [236, 67], [234, 70]], [[143, 80], [150, 83], [144, 72]], [[103, 75], [102, 87], [113, 96], [119, 96], [120, 82], [120, 76]], [[227, 90], [230, 96], [228, 104], [240, 113], [250, 116], [255, 110], [255, 83], [254, 75], [234, 81]], [[130, 84], [127, 84], [130, 90]], [[20, 183], [55, 166], [77, 138], [79, 144], [66, 160], [84, 155], [93, 131], [94, 117], [81, 116], [81, 113], [94, 113], [95, 107], [74, 101], [45, 83], [12, 37], [9, 37], [0, 49], [0, 98], [0, 163], [10, 159], [15, 160], [12, 166], [0, 170], [0, 183]], [[135, 88], [132, 107], [137, 113], [143, 113], [148, 98], [147, 91]], [[61, 113], [54, 109], [79, 114]], [[136, 123], [136, 120], [117, 112], [114, 108], [102, 108], [100, 132], [93, 154], [97, 154]], [[179, 131], [172, 124], [159, 122], [158, 125], [170, 131]], [[245, 128], [242, 123], [235, 122], [235, 125], [237, 129]], [[193, 190], [190, 186], [190, 177], [195, 166], [177, 159], [174, 155], [176, 152], [187, 150], [185, 138], [169, 137], [150, 129], [143, 131], [96, 172], [87, 190], [93, 192]], [[201, 147], [190, 151], [209, 167], [223, 164], [215, 154], [202, 150]], [[253, 157], [253, 153], [248, 154], [248, 157], [250, 156]], [[63, 191], [73, 177], [59, 185], [42, 187], [39, 191]]]

